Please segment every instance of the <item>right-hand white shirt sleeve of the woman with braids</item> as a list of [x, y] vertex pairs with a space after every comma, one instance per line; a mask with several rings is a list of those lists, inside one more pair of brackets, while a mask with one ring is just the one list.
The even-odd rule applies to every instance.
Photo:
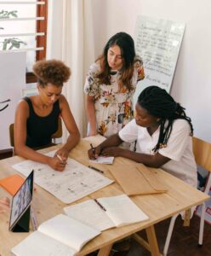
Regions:
[[173, 124], [171, 135], [168, 139], [167, 147], [160, 148], [158, 153], [171, 160], [179, 161], [190, 140], [190, 132], [190, 125], [186, 120], [176, 119]]

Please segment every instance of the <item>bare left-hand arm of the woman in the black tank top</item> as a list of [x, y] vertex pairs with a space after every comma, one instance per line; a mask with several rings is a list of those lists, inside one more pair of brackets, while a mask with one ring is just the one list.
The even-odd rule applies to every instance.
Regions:
[[14, 152], [26, 159], [48, 164], [55, 170], [63, 171], [65, 166], [56, 157], [48, 157], [26, 146], [26, 120], [29, 116], [29, 107], [26, 101], [21, 101], [16, 108], [14, 119]]

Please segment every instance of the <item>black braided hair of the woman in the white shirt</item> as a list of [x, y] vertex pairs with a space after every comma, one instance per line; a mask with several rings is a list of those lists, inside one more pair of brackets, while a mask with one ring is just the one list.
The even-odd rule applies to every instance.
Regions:
[[138, 104], [151, 115], [161, 119], [160, 135], [157, 145], [153, 148], [154, 152], [157, 152], [159, 148], [167, 147], [175, 119], [185, 119], [191, 127], [190, 136], [193, 135], [191, 119], [186, 116], [185, 108], [181, 107], [180, 103], [175, 102], [166, 90], [157, 86], [149, 86], [140, 93]]

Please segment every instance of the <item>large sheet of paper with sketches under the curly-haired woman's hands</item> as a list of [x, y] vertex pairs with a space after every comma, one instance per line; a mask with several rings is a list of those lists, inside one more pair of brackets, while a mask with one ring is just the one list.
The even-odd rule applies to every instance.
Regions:
[[[54, 153], [55, 151], [51, 151], [47, 155]], [[22, 161], [13, 168], [24, 176], [28, 176], [31, 170], [34, 170], [35, 183], [66, 204], [77, 201], [113, 182], [70, 158], [63, 172], [54, 171], [50, 166], [32, 160]]]

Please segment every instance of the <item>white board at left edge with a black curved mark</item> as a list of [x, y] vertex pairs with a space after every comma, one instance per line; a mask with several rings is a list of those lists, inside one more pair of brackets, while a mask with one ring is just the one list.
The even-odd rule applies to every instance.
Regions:
[[26, 52], [0, 53], [0, 150], [11, 148], [9, 125], [26, 85]]

